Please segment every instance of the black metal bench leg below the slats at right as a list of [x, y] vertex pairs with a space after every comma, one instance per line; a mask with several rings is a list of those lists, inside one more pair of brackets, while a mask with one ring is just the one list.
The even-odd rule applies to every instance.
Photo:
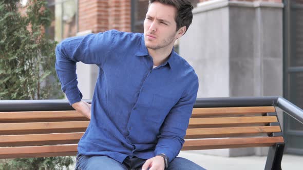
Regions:
[[269, 148], [266, 160], [265, 170], [281, 170], [281, 161], [283, 157], [285, 143], [276, 143]]

